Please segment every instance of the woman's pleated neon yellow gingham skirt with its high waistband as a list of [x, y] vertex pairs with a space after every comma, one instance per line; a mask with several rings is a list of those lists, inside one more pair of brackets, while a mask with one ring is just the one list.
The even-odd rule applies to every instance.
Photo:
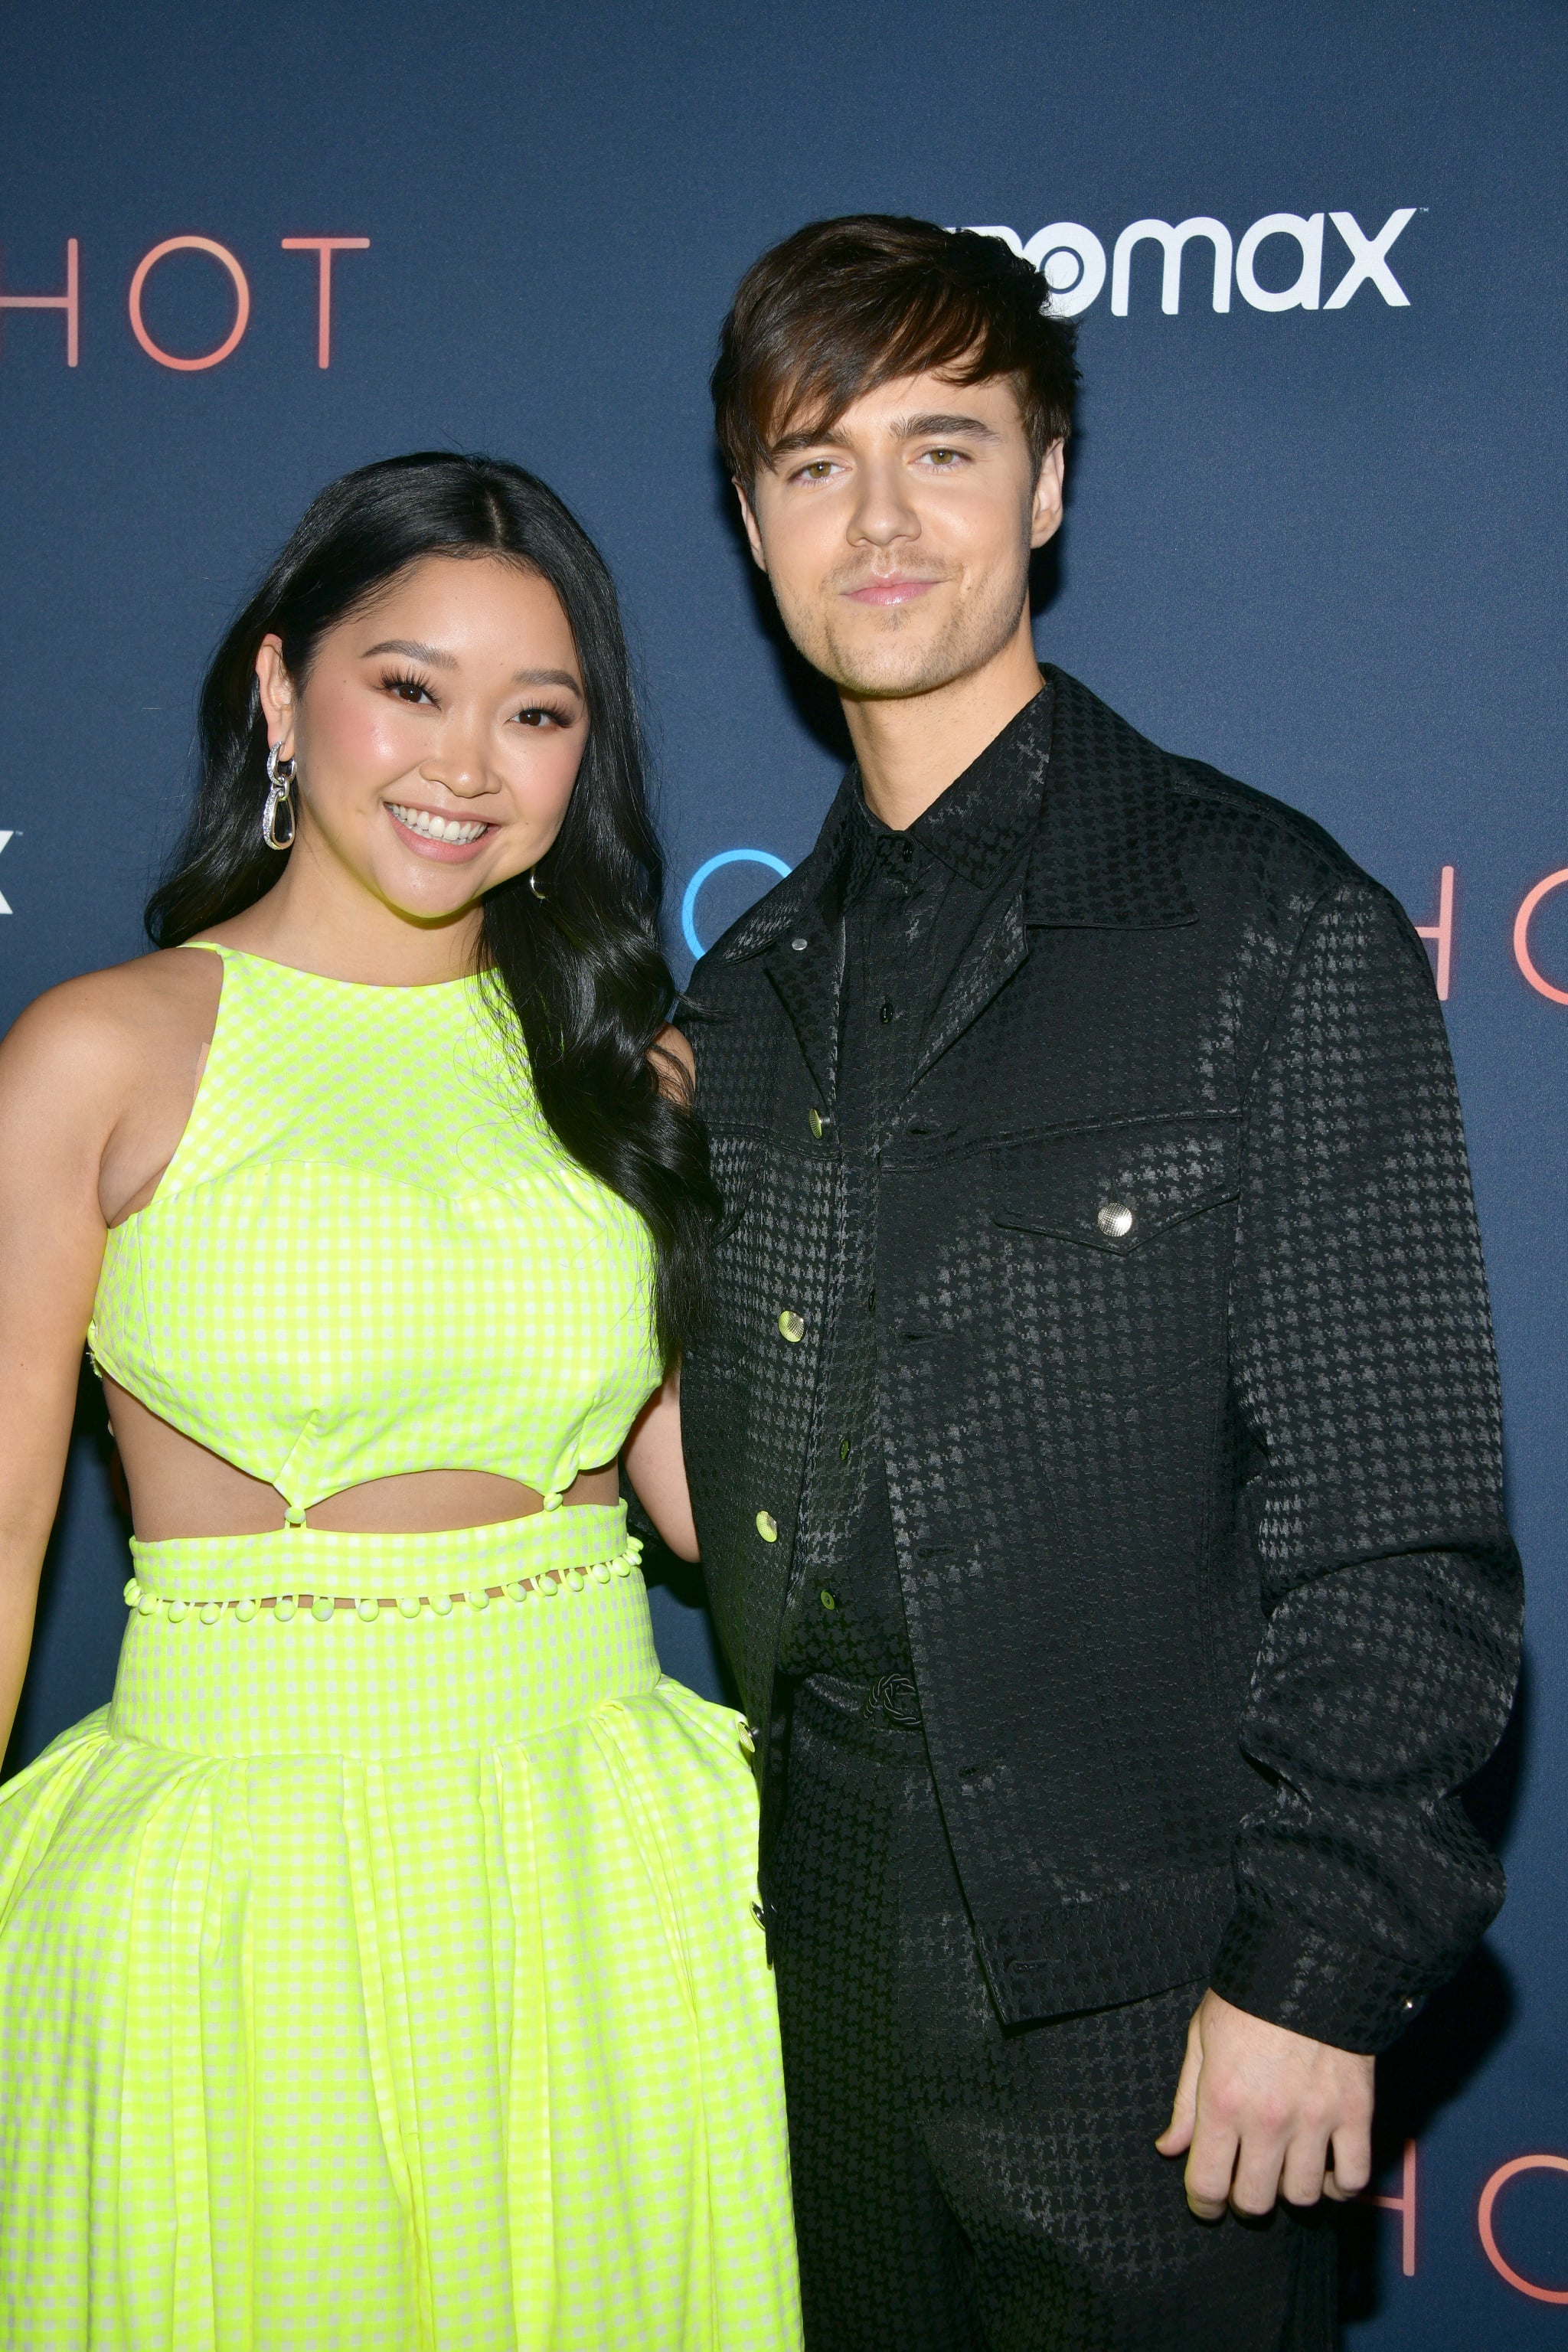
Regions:
[[743, 1726], [621, 1510], [136, 1573], [113, 1703], [0, 1790], [7, 2352], [795, 2347]]

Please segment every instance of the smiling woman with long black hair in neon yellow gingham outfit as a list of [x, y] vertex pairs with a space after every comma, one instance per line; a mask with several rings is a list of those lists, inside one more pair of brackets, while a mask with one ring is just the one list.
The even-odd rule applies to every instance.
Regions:
[[[0, 1054], [0, 1705], [82, 1338], [115, 1696], [0, 1792], [0, 2340], [797, 2340], [745, 1726], [661, 1679], [712, 1214], [616, 597], [334, 482], [223, 640], [162, 953]], [[630, 1432], [630, 1435], [628, 1435]]]

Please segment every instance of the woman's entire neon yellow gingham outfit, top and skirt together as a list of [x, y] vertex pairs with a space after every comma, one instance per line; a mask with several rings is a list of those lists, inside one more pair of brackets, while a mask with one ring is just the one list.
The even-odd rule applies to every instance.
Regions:
[[[508, 1141], [468, 983], [226, 967], [101, 1359], [301, 1505], [614, 1454], [646, 1244]], [[799, 2343], [745, 1733], [632, 1555], [602, 1508], [136, 1545], [110, 1708], [0, 1790], [0, 2345]], [[299, 1592], [407, 1609], [249, 1609]]]

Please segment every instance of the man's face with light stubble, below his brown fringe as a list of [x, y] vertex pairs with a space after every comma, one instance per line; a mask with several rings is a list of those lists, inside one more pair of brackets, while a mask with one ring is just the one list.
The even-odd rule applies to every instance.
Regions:
[[813, 668], [851, 696], [931, 694], [1027, 628], [1030, 550], [1063, 520], [1063, 452], [1037, 473], [1006, 376], [900, 376], [827, 430], [785, 423], [741, 510]]

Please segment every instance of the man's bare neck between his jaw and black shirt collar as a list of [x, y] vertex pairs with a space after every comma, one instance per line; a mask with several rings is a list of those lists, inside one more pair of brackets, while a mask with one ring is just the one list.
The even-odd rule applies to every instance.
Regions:
[[900, 699], [844, 696], [872, 816], [905, 833], [1037, 694], [1039, 661], [1025, 612], [1018, 635], [971, 677]]

